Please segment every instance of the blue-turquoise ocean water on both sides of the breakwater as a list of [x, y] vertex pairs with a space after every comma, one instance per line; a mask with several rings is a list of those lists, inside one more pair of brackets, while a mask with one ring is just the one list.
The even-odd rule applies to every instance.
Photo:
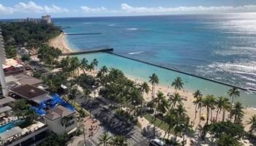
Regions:
[[[189, 74], [256, 89], [256, 13], [227, 15], [164, 15], [105, 18], [55, 18], [75, 50], [113, 47], [114, 53]], [[148, 80], [156, 72], [160, 82], [170, 85], [181, 76], [188, 90], [226, 96], [230, 87], [189, 75], [165, 71], [107, 53], [78, 55], [97, 58], [99, 66], [121, 68], [125, 73]], [[142, 67], [143, 66], [143, 67]], [[255, 93], [241, 93], [238, 99], [256, 107]]]

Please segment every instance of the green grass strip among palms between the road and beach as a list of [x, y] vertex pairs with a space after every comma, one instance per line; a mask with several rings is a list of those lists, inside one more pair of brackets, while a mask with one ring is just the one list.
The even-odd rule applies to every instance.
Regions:
[[[165, 123], [164, 121], [160, 120], [159, 118], [156, 118], [156, 120], [153, 123], [153, 120], [154, 120], [153, 115], [146, 114], [146, 115], [144, 115], [144, 118], [146, 118], [146, 120], [148, 120], [148, 122], [154, 124], [158, 128], [161, 128], [163, 131], [167, 131], [169, 128], [169, 124]], [[174, 134], [172, 129], [170, 130], [170, 134]], [[178, 134], [178, 136], [180, 136], [180, 135], [181, 134]]]

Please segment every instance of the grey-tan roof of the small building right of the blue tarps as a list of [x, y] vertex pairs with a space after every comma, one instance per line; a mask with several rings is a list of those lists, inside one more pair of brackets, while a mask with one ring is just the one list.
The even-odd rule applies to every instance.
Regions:
[[45, 117], [50, 120], [55, 120], [60, 117], [66, 117], [66, 116], [72, 115], [73, 113], [75, 113], [75, 111], [71, 111], [66, 107], [58, 105], [57, 107], [54, 107], [53, 109], [48, 110]]

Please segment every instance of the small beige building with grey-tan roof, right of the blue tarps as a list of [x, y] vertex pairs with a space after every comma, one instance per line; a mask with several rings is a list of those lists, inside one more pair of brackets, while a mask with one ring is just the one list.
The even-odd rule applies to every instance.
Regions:
[[48, 125], [50, 131], [56, 134], [71, 134], [77, 130], [77, 120], [75, 111], [71, 111], [66, 107], [58, 105], [47, 111], [45, 115], [45, 124]]

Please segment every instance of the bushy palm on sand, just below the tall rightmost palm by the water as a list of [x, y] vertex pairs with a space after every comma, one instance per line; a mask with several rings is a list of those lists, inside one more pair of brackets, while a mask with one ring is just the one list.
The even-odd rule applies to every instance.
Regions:
[[244, 107], [237, 101], [230, 111], [230, 117], [234, 117], [234, 123], [240, 123], [244, 118]]

